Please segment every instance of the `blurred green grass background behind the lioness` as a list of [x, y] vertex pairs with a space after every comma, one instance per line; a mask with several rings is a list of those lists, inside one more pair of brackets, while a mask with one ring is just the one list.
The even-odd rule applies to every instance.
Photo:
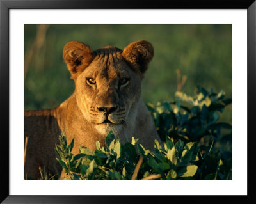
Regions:
[[[182, 91], [193, 95], [196, 85], [232, 97], [232, 26], [226, 24], [73, 24], [24, 26], [25, 109], [58, 106], [74, 91], [62, 58], [65, 43], [77, 40], [92, 49], [148, 40], [154, 58], [143, 79], [144, 102], [173, 101], [176, 70], [188, 76]], [[231, 106], [221, 120], [231, 123]]]

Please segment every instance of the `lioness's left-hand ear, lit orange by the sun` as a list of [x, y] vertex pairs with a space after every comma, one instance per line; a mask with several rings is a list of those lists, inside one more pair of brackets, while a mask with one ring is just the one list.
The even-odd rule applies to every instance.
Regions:
[[67, 63], [71, 78], [76, 79], [93, 59], [92, 49], [81, 42], [68, 42], [63, 49], [63, 58]]

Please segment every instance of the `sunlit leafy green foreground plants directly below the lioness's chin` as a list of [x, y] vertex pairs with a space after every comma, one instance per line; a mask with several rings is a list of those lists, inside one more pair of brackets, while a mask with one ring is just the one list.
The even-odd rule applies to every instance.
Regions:
[[[72, 144], [66, 145], [65, 135], [60, 136], [61, 144], [56, 146], [58, 161], [65, 169], [68, 179], [177, 179], [193, 177], [198, 166], [195, 143], [184, 145], [182, 141], [173, 143], [166, 136], [164, 147], [154, 142], [155, 152], [145, 150], [138, 144], [138, 139], [132, 137], [131, 143], [122, 145], [115, 139], [112, 132], [106, 137], [106, 146], [97, 143], [97, 150], [92, 152], [86, 147], [80, 147], [81, 154], [74, 156], [70, 151]], [[138, 153], [136, 152], [136, 146]], [[140, 171], [135, 171], [139, 161]], [[135, 174], [134, 174], [135, 172]]]

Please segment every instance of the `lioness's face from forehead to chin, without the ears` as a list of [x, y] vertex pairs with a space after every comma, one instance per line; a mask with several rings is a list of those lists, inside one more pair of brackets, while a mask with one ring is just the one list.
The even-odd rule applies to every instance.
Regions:
[[79, 107], [99, 130], [116, 129], [127, 122], [132, 104], [140, 97], [141, 78], [121, 53], [113, 47], [100, 49], [76, 79]]

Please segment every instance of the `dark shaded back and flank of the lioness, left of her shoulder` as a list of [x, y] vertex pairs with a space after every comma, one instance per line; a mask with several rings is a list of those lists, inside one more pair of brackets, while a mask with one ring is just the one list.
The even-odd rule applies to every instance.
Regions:
[[[27, 178], [38, 178], [39, 166], [48, 169], [50, 164], [54, 166], [51, 169], [57, 168], [60, 171], [54, 148], [61, 130], [58, 121], [50, 113], [51, 110], [24, 113], [24, 139], [27, 140], [24, 146], [26, 151], [24, 176], [27, 175]], [[52, 171], [51, 174], [56, 174], [58, 171]]]

